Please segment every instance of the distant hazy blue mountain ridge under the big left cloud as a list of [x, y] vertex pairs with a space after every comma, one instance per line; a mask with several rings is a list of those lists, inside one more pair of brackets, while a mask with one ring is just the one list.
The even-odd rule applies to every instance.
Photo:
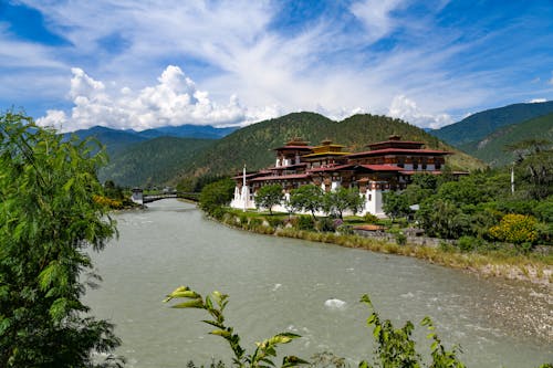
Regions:
[[201, 138], [201, 139], [219, 139], [232, 132], [238, 127], [216, 128], [210, 125], [190, 125], [185, 124], [180, 126], [165, 126], [155, 129], [147, 129], [137, 132], [136, 134], [144, 138], [157, 138], [163, 136], [180, 137], [180, 138]]

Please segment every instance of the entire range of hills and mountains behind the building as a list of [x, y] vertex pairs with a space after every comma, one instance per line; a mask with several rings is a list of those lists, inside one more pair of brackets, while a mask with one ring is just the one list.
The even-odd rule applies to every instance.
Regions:
[[128, 187], [229, 175], [244, 164], [248, 170], [267, 167], [273, 161], [272, 148], [291, 137], [303, 137], [312, 145], [328, 138], [349, 151], [361, 151], [368, 143], [397, 134], [424, 141], [429, 148], [456, 151], [449, 164], [470, 170], [483, 168], [483, 162], [511, 162], [505, 145], [531, 138], [553, 140], [553, 102], [493, 108], [436, 130], [387, 116], [363, 114], [334, 122], [315, 113], [294, 113], [240, 129], [182, 125], [134, 132], [93, 127], [75, 134], [81, 138], [94, 136], [106, 146], [112, 160], [101, 170], [101, 180]]

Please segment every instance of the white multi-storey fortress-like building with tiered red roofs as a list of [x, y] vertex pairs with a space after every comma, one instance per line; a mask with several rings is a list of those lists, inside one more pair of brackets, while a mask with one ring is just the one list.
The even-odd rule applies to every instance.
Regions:
[[254, 209], [254, 196], [259, 188], [278, 183], [282, 186], [284, 202], [276, 211], [285, 211], [290, 192], [305, 185], [316, 185], [323, 191], [337, 188], [357, 188], [364, 198], [361, 214], [384, 217], [383, 192], [405, 189], [414, 174], [441, 174], [445, 158], [451, 153], [426, 149], [420, 141], [401, 140], [390, 136], [388, 140], [367, 145], [362, 153], [344, 151], [344, 146], [323, 140], [309, 146], [302, 139], [292, 139], [275, 148], [275, 164], [257, 172], [236, 176], [234, 198], [231, 207]]

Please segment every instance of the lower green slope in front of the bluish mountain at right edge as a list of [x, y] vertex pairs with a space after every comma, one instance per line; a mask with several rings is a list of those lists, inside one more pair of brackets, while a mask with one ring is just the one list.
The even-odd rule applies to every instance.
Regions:
[[459, 146], [471, 156], [490, 166], [504, 166], [514, 156], [504, 150], [505, 146], [528, 139], [547, 139], [553, 143], [553, 113], [520, 124], [509, 125], [493, 132], [486, 138]]

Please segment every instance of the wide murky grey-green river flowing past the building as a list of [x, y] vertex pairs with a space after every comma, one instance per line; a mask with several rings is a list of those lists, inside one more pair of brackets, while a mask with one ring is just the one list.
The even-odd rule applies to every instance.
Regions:
[[[93, 314], [116, 324], [128, 367], [186, 367], [228, 360], [223, 339], [208, 335], [202, 311], [161, 303], [179, 285], [230, 295], [228, 324], [248, 351], [280, 332], [302, 338], [279, 354], [303, 358], [328, 350], [352, 362], [372, 355], [369, 294], [382, 317], [416, 325], [430, 316], [446, 343], [459, 344], [469, 367], [538, 367], [553, 361], [546, 288], [481, 278], [424, 261], [331, 244], [252, 234], [206, 220], [192, 204], [163, 200], [116, 215], [119, 238], [93, 255], [104, 281], [88, 291]], [[330, 299], [338, 299], [330, 303]], [[342, 303], [344, 302], [344, 303]], [[512, 315], [538, 313], [539, 326]], [[542, 336], [532, 333], [544, 332]], [[545, 336], [545, 337], [544, 337]], [[426, 351], [426, 350], [424, 350]], [[353, 364], [353, 366], [355, 366]]]

